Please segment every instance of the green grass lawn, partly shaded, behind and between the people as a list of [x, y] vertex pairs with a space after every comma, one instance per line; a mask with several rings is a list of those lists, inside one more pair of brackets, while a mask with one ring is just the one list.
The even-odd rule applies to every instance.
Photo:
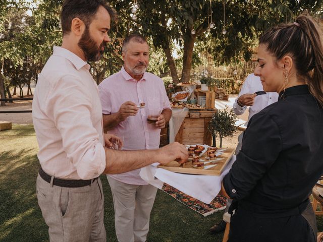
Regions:
[[[49, 241], [47, 226], [36, 197], [39, 169], [37, 141], [32, 125], [13, 125], [0, 132], [0, 241]], [[117, 241], [113, 200], [105, 176], [104, 224], [107, 241]], [[150, 242], [222, 241], [222, 234], [207, 229], [222, 219], [223, 212], [207, 217], [194, 212], [171, 196], [158, 191], [150, 216]]]

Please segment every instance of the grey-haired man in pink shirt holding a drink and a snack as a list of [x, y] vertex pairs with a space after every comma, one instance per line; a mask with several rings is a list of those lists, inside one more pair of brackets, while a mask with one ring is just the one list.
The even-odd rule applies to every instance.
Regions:
[[[164, 82], [146, 72], [149, 46], [141, 35], [132, 34], [124, 39], [122, 57], [121, 71], [99, 85], [104, 130], [123, 138], [124, 150], [157, 149], [160, 129], [172, 116]], [[155, 124], [147, 122], [150, 116], [156, 117]], [[144, 242], [147, 238], [157, 188], [141, 179], [139, 172], [136, 169], [107, 175], [119, 242]]]

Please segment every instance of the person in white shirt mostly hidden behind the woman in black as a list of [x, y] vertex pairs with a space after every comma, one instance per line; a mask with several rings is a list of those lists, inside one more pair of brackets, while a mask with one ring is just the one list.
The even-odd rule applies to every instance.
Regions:
[[[258, 93], [258, 95], [257, 95]], [[239, 92], [238, 98], [233, 104], [233, 111], [236, 115], [243, 114], [249, 107], [249, 116], [248, 121], [245, 123], [245, 126], [248, 125], [250, 118], [260, 112], [263, 108], [268, 105], [271, 105], [278, 100], [277, 92], [263, 92], [263, 87], [260, 81], [260, 77], [255, 76], [253, 73], [248, 75], [244, 81], [241, 90]], [[238, 145], [235, 151], [235, 155], [241, 150], [243, 133], [238, 137]], [[231, 199], [227, 199], [227, 208], [225, 213], [228, 212], [228, 209], [231, 204]], [[222, 220], [220, 223], [213, 225], [209, 231], [211, 233], [218, 233], [224, 231], [226, 228], [226, 222]]]

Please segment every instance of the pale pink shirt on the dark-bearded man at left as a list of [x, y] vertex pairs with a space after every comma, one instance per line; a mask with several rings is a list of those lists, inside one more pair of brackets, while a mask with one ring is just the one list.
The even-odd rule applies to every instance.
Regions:
[[54, 47], [41, 71], [32, 116], [42, 169], [66, 179], [91, 179], [105, 168], [102, 110], [90, 66]]

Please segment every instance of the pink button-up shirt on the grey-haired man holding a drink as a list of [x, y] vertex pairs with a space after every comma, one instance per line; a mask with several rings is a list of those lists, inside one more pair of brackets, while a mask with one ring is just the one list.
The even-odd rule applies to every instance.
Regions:
[[[163, 80], [145, 72], [142, 79], [133, 79], [122, 67], [121, 71], [106, 78], [99, 84], [103, 114], [119, 111], [121, 104], [132, 101], [144, 102], [146, 107], [139, 109], [137, 115], [129, 116], [109, 133], [124, 139], [124, 150], [158, 149], [160, 129], [147, 123], [151, 112], [161, 113], [171, 109]], [[110, 175], [127, 184], [146, 185], [139, 176], [140, 169], [122, 174]]]

